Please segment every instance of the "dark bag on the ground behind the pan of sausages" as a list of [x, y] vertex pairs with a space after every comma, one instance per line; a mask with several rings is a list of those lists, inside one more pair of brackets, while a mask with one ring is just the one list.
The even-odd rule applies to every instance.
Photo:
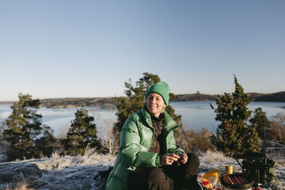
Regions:
[[[239, 163], [242, 160], [242, 164]], [[242, 173], [252, 178], [255, 184], [270, 183], [276, 179], [276, 162], [266, 159], [266, 154], [246, 152], [237, 156], [237, 162], [242, 167]]]

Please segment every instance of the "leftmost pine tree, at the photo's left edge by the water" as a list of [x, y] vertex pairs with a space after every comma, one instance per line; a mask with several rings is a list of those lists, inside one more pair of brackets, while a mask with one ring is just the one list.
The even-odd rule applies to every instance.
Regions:
[[41, 134], [41, 115], [36, 110], [40, 100], [19, 93], [19, 101], [11, 105], [12, 113], [6, 120], [4, 136], [9, 142], [8, 160], [29, 159], [38, 156], [34, 141]]

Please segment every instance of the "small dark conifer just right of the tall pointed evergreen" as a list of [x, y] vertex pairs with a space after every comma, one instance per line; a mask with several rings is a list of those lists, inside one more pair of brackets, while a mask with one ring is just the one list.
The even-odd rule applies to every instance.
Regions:
[[252, 125], [256, 125], [259, 138], [264, 139], [264, 130], [268, 130], [271, 127], [266, 117], [266, 112], [262, 112], [262, 108], [258, 107], [254, 110], [254, 117], [252, 117], [249, 122], [251, 122]]

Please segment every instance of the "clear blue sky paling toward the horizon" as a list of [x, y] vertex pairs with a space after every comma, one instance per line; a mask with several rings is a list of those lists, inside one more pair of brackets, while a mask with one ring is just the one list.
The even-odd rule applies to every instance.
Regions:
[[285, 1], [0, 1], [0, 101], [285, 90]]

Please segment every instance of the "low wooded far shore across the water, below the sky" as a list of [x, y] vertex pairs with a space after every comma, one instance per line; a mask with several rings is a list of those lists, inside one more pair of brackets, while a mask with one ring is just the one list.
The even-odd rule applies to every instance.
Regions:
[[[285, 91], [279, 93], [250, 93], [255, 102], [285, 102]], [[206, 95], [201, 93], [175, 95], [174, 102], [216, 100], [218, 95]], [[12, 104], [16, 101], [0, 102], [0, 105]], [[71, 108], [86, 106], [114, 106], [115, 97], [66, 97], [48, 98], [41, 100], [41, 107], [48, 108]]]

